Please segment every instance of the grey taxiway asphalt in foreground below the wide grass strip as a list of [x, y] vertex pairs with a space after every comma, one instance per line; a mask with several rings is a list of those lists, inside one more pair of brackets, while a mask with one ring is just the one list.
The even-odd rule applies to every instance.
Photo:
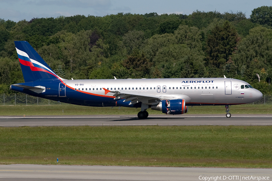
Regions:
[[[197, 168], [197, 167], [120, 167], [79, 165], [0, 165], [0, 181], [117, 181], [117, 180], [250, 180], [272, 179], [272, 169]], [[213, 179], [211, 179], [213, 177]], [[215, 177], [217, 179], [215, 179]], [[221, 177], [221, 179], [220, 179]], [[267, 179], [267, 177], [269, 177]], [[243, 179], [244, 178], [244, 179]], [[206, 179], [208, 180], [208, 179]], [[253, 179], [251, 179], [253, 180]], [[256, 180], [256, 178], [254, 179]], [[258, 180], [258, 179], [257, 179]], [[260, 179], [261, 180], [261, 179]]]

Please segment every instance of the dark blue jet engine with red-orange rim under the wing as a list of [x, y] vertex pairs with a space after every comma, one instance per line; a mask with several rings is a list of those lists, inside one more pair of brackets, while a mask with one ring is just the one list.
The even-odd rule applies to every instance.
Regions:
[[152, 110], [162, 111], [165, 114], [184, 114], [188, 112], [184, 99], [162, 100], [157, 105], [151, 106]]

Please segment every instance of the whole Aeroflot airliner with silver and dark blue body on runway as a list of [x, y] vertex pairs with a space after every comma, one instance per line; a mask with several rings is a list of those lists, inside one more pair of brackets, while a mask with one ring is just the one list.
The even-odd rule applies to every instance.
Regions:
[[[36, 97], [97, 107], [140, 107], [138, 118], [147, 109], [166, 114], [184, 114], [188, 106], [246, 104], [263, 94], [247, 82], [231, 78], [161, 78], [66, 80], [60, 78], [26, 41], [15, 41], [25, 83], [11, 90]], [[225, 77], [225, 76], [224, 76]]]

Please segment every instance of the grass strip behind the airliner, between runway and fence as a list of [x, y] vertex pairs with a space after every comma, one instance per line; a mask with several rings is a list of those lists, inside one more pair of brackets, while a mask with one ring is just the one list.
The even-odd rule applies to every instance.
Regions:
[[[0, 116], [32, 116], [32, 115], [137, 115], [141, 109], [121, 107], [89, 107], [71, 104], [50, 106], [0, 106]], [[272, 105], [234, 105], [230, 107], [232, 114], [272, 114]], [[163, 114], [156, 110], [147, 110], [149, 114]], [[225, 114], [225, 106], [189, 106], [186, 114]]]

